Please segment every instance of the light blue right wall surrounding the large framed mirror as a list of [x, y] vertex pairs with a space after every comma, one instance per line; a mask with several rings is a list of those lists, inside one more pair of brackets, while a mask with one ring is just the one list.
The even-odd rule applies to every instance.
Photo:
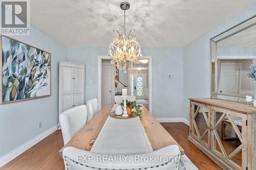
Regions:
[[210, 97], [211, 37], [256, 14], [256, 2], [184, 47], [184, 116], [189, 118], [188, 98]]

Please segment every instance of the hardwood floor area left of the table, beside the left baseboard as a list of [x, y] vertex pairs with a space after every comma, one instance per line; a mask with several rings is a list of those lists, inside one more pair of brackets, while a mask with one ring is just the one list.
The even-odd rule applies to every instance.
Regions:
[[61, 131], [57, 130], [0, 169], [64, 169], [63, 160], [58, 154], [63, 145]]

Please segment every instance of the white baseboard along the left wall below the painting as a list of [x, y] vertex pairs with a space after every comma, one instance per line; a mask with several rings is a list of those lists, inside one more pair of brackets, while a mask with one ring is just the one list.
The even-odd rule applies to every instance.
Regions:
[[13, 151], [9, 152], [8, 154], [2, 156], [0, 158], [0, 167], [4, 166], [8, 162], [13, 160], [17, 156], [19, 156], [20, 154], [24, 153], [25, 151], [27, 151], [28, 149], [33, 147], [33, 145], [35, 145], [36, 143], [38, 143], [42, 139], [46, 138], [47, 136], [49, 136], [50, 134], [55, 132], [57, 129], [58, 129], [58, 125], [55, 125], [54, 127], [48, 129], [47, 131], [39, 134], [38, 136], [36, 136], [33, 139], [29, 140], [28, 142], [24, 143], [20, 147], [14, 149]]

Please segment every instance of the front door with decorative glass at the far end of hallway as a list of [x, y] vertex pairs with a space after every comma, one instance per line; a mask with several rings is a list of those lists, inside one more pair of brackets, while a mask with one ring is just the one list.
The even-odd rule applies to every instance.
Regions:
[[131, 95], [136, 99], [146, 99], [145, 75], [131, 75]]

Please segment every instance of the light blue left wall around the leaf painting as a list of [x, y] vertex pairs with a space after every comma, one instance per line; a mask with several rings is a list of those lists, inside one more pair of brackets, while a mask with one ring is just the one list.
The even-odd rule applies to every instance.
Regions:
[[13, 38], [51, 53], [52, 94], [47, 98], [0, 105], [0, 158], [58, 123], [58, 61], [67, 57], [65, 46], [33, 26], [30, 36]]

